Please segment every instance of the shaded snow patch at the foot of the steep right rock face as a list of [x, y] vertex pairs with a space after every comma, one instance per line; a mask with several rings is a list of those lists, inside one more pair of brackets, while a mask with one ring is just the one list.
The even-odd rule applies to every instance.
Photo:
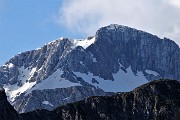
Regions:
[[[148, 82], [142, 72], [138, 72], [136, 75], [133, 73], [131, 67], [126, 69], [127, 73], [123, 70], [119, 70], [116, 74], [113, 74], [114, 80], [104, 80], [99, 76], [94, 76], [92, 73], [80, 73], [74, 72], [77, 77], [81, 77], [84, 81], [98, 88], [101, 88], [105, 92], [129, 92], [136, 87]], [[99, 84], [92, 83], [92, 78], [95, 78]]]

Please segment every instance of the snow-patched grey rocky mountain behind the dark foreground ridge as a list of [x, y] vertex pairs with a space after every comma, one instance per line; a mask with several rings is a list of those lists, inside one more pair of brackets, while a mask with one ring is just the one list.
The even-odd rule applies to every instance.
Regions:
[[57, 39], [0, 67], [0, 86], [19, 113], [128, 92], [160, 78], [180, 80], [179, 46], [116, 24], [85, 40]]

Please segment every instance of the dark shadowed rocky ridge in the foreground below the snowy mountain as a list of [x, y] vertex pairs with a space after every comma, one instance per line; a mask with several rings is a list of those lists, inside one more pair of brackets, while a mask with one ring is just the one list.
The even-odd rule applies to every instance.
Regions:
[[[2, 94], [6, 98], [4, 91], [0, 91]], [[1, 120], [179, 120], [180, 82], [151, 81], [131, 92], [89, 97], [53, 111], [41, 109], [18, 115], [7, 99], [3, 103], [6, 106], [1, 108]], [[10, 119], [6, 119], [7, 114], [2, 111], [10, 112]]]

